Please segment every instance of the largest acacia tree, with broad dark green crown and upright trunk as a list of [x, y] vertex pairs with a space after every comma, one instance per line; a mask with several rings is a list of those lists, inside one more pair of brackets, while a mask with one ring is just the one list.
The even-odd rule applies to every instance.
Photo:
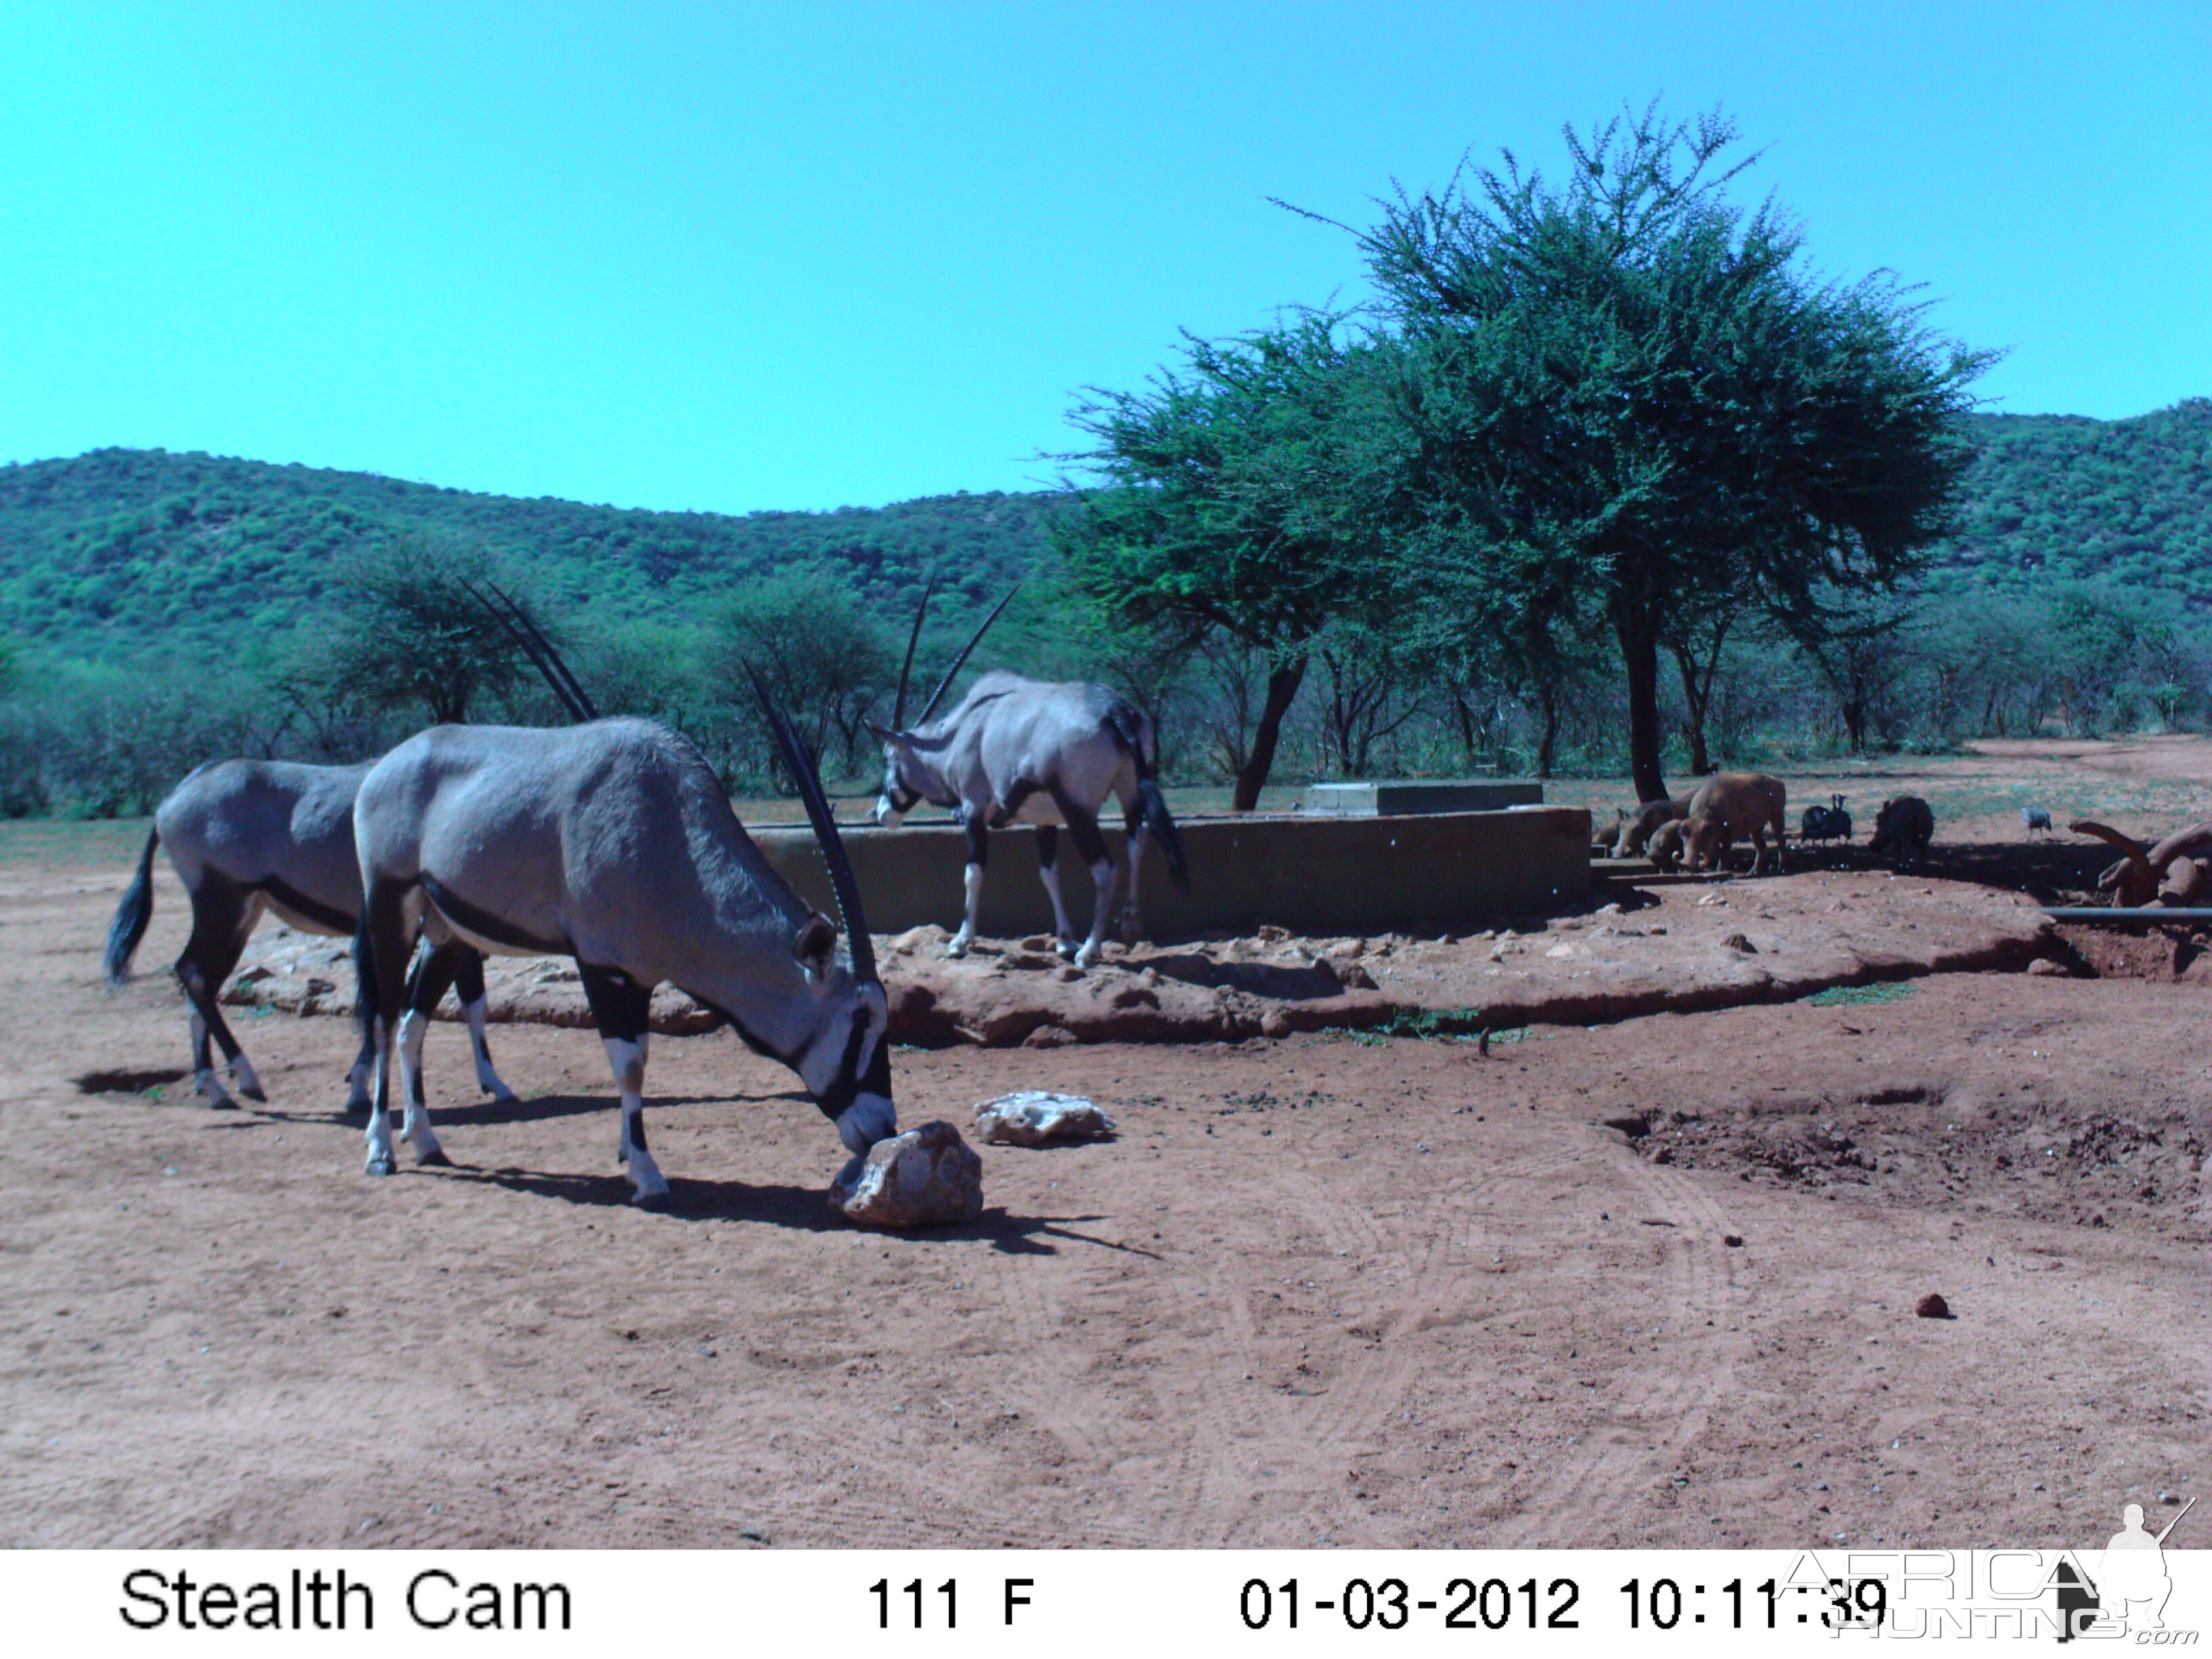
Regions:
[[[1637, 792], [1659, 770], [1659, 650], [1717, 595], [1798, 637], [1823, 593], [1889, 588], [1947, 533], [1964, 385], [1991, 354], [1929, 334], [1887, 272], [1820, 283], [1801, 237], [1723, 188], [1750, 159], [1710, 113], [1657, 104], [1588, 139], [1553, 186], [1478, 170], [1385, 201], [1354, 232], [1402, 352], [1409, 522], [1524, 604], [1546, 584], [1604, 619], [1628, 690]], [[1756, 159], [1756, 157], [1752, 157]]]

